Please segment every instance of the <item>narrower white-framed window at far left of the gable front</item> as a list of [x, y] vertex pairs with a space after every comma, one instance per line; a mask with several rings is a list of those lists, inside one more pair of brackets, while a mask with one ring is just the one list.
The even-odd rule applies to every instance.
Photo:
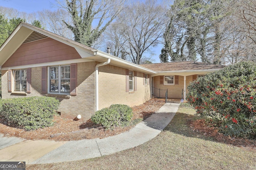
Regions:
[[27, 69], [14, 70], [14, 90], [27, 91]]

